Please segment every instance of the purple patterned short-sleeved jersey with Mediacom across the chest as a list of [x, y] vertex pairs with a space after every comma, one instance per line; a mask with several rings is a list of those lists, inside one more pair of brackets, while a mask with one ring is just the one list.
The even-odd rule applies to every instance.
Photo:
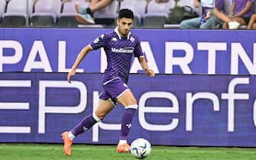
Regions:
[[103, 75], [103, 83], [117, 77], [127, 83], [133, 55], [135, 57], [144, 56], [138, 37], [131, 33], [128, 34], [128, 37], [121, 37], [117, 27], [108, 34], [97, 37], [89, 46], [92, 50], [101, 47], [105, 50], [108, 65]]

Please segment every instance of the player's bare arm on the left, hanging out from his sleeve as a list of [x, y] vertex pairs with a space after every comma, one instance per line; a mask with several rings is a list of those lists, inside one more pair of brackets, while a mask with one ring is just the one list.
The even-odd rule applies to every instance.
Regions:
[[80, 62], [84, 59], [84, 57], [91, 51], [92, 48], [90, 46], [85, 46], [83, 50], [80, 51], [78, 56], [76, 57], [76, 61], [74, 62], [71, 71], [67, 74], [67, 82], [71, 83], [71, 77], [76, 74], [76, 69], [78, 68]]

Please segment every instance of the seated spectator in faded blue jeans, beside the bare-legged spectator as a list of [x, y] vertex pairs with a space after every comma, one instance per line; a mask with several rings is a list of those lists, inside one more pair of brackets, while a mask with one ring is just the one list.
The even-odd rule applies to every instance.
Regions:
[[214, 8], [214, 0], [194, 0], [195, 7], [202, 5], [203, 14], [199, 18], [192, 18], [183, 20], [180, 23], [180, 28], [183, 29], [212, 29], [215, 27], [215, 16], [212, 15], [212, 9]]

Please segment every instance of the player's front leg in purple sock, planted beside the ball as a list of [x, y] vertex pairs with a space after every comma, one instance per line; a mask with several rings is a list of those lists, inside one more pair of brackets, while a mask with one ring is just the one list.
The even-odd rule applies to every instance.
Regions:
[[117, 101], [125, 107], [125, 114], [123, 114], [122, 117], [121, 136], [119, 137], [116, 151], [130, 152], [131, 147], [128, 145], [127, 137], [131, 130], [132, 117], [138, 108], [138, 104], [130, 89], [125, 90], [125, 92], [120, 97], [118, 97]]

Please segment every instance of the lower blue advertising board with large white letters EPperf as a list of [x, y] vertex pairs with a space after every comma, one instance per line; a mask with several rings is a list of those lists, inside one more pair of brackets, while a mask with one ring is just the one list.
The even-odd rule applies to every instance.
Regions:
[[[0, 142], [62, 142], [96, 109], [102, 74], [0, 73]], [[138, 100], [128, 142], [153, 145], [256, 146], [256, 78], [250, 75], [131, 74]], [[124, 108], [76, 137], [76, 143], [116, 144]]]

